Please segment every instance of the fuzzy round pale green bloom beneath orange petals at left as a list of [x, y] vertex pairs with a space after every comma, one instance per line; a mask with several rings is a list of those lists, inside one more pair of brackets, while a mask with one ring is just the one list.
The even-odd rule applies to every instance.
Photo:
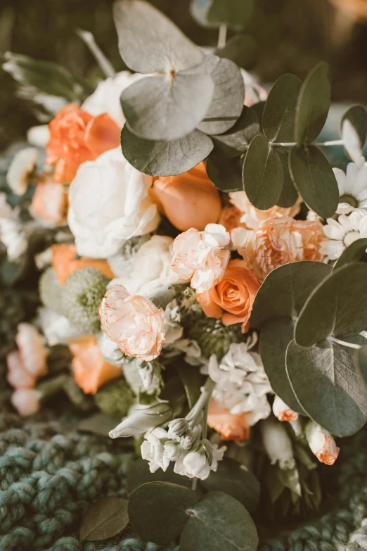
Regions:
[[63, 313], [72, 325], [84, 331], [98, 331], [98, 308], [108, 281], [96, 268], [82, 268], [67, 278], [62, 289]]

